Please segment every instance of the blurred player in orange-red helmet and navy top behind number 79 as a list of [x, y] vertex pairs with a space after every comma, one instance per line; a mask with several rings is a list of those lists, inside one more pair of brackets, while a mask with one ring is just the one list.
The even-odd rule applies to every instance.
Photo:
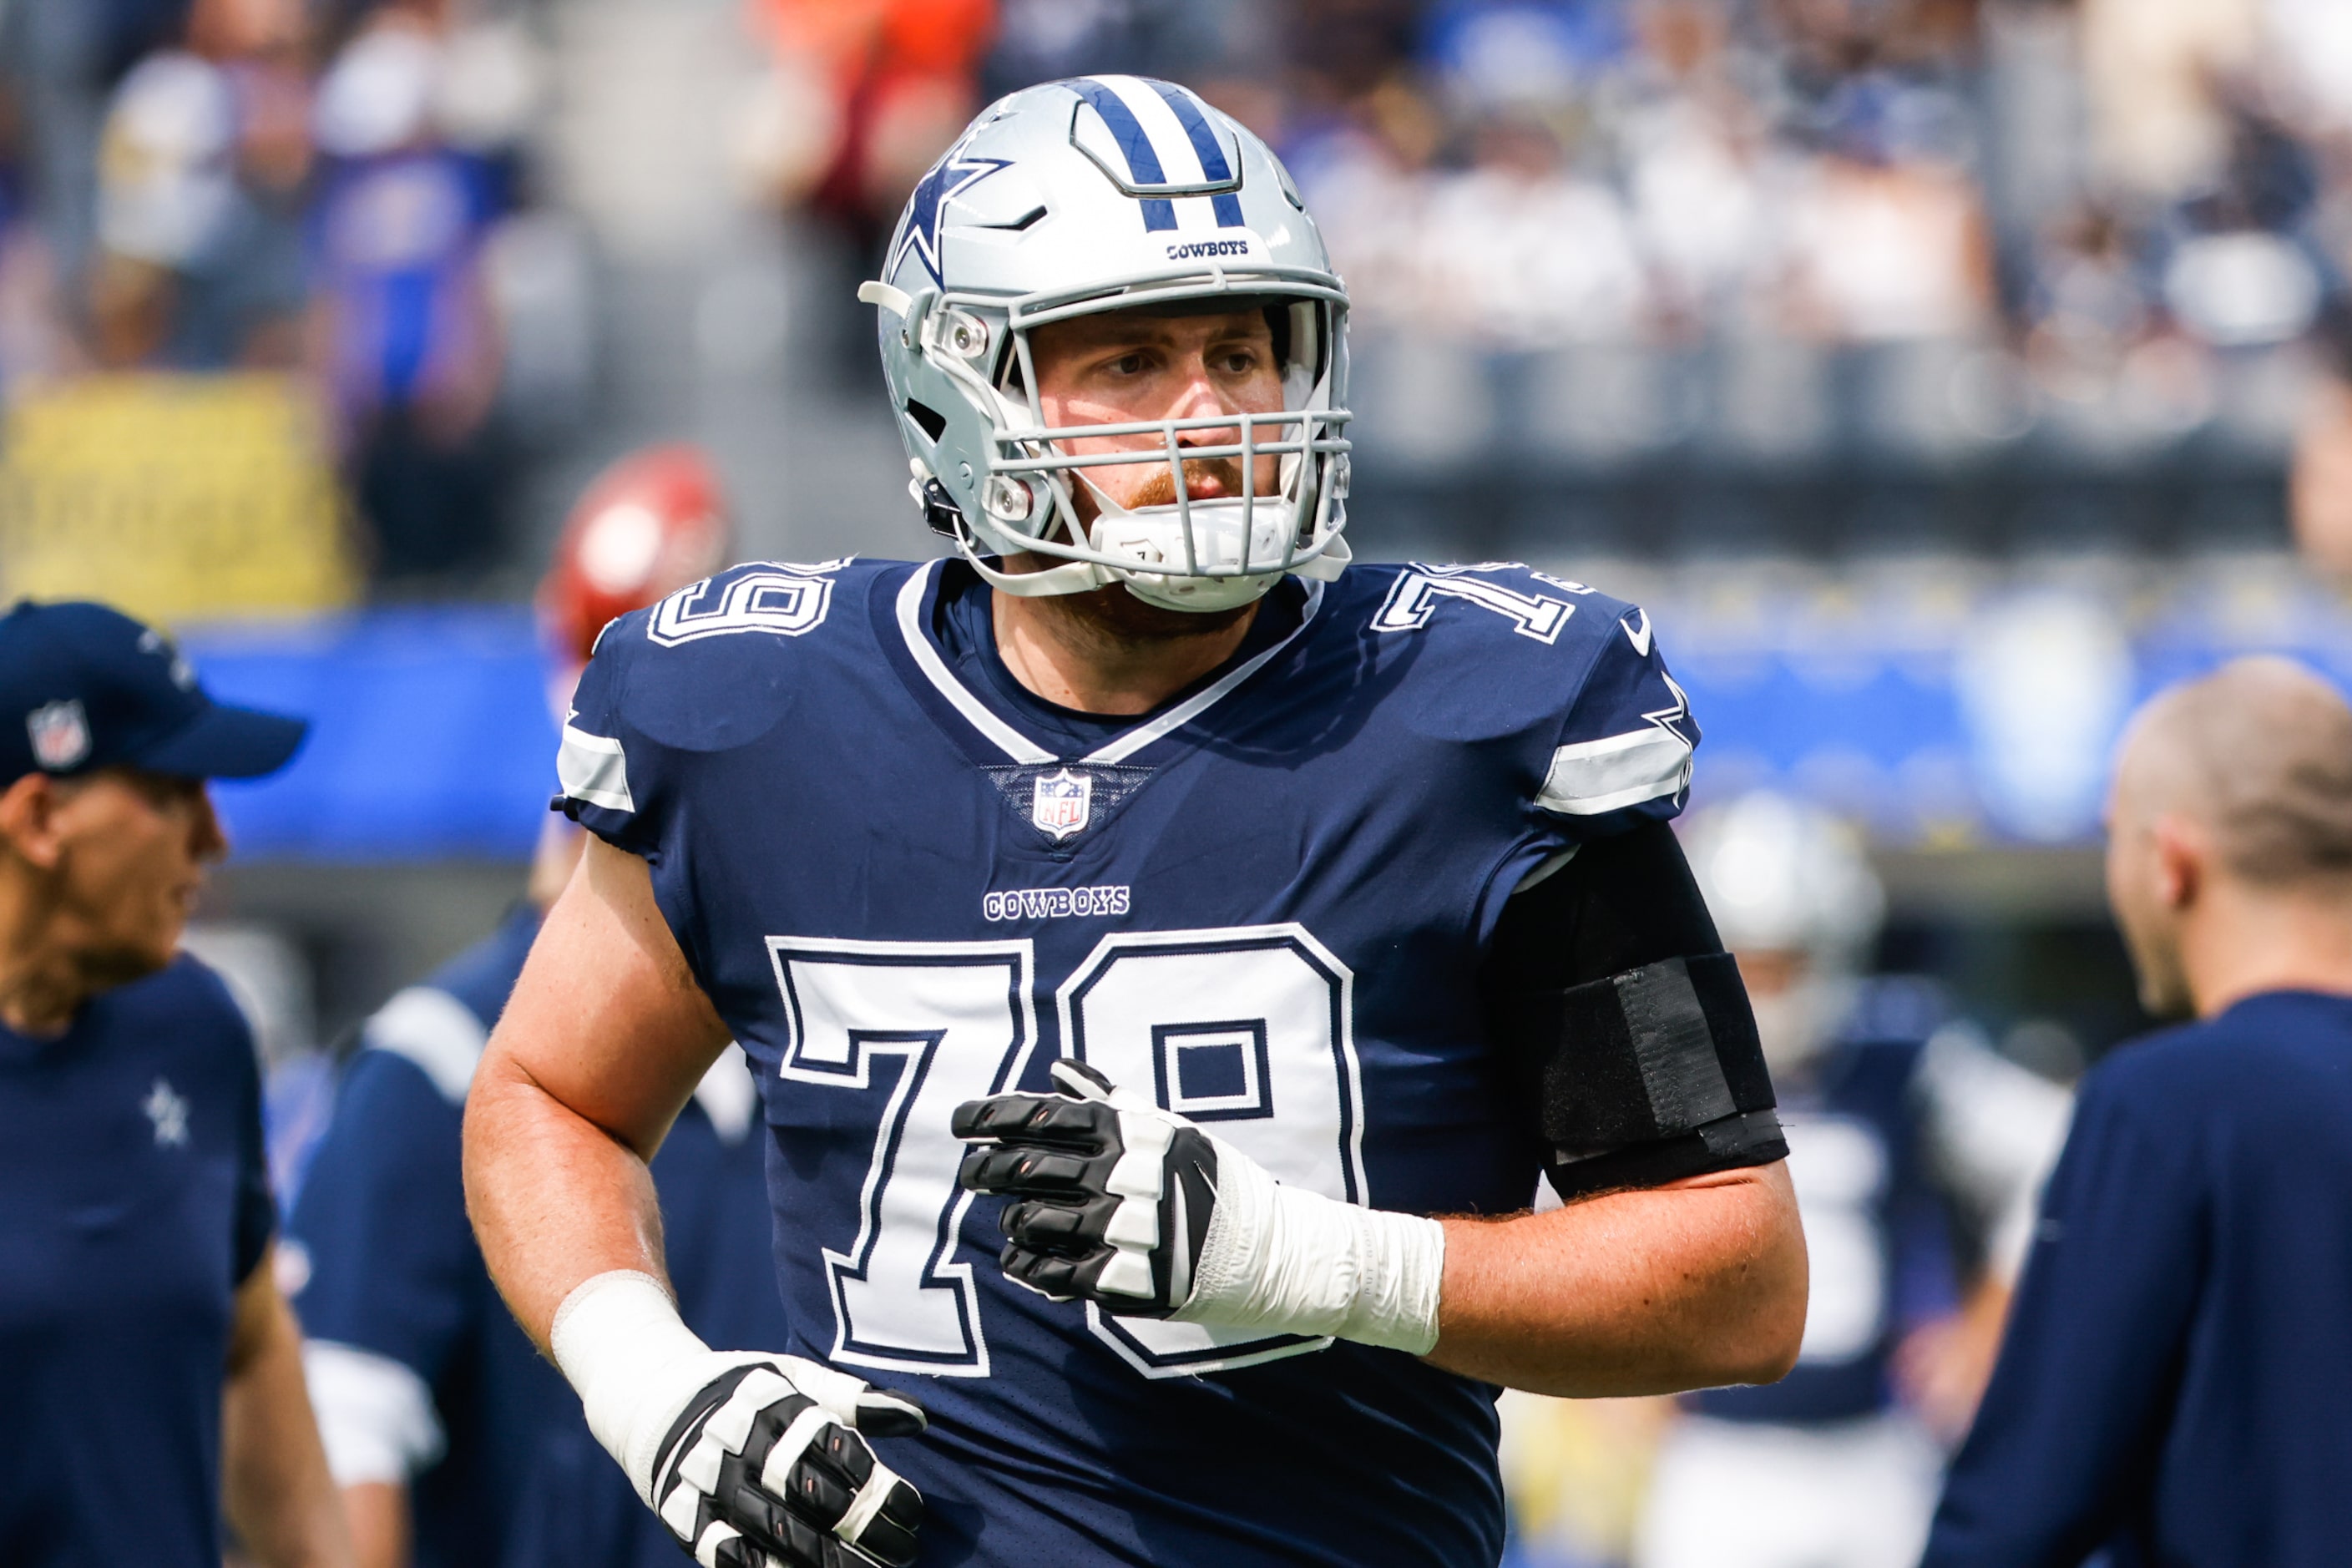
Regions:
[[[722, 548], [720, 489], [696, 449], [614, 463], [581, 496], [541, 583], [553, 696], [572, 696], [614, 616], [710, 571]], [[294, 1201], [303, 1363], [362, 1568], [677, 1559], [661, 1521], [595, 1450], [562, 1378], [499, 1305], [459, 1182], [459, 1124], [482, 1041], [581, 837], [550, 816], [529, 898], [369, 1018]], [[731, 1345], [781, 1347], [753, 1114], [743, 1056], [724, 1051], [680, 1112], [654, 1178], [687, 1321]]]

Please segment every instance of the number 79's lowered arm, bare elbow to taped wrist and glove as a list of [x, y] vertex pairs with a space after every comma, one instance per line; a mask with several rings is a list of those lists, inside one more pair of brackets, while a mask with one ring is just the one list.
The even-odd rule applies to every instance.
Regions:
[[[466, 1098], [482, 1260], [590, 1432], [703, 1561], [835, 1568], [870, 1561], [844, 1554], [858, 1542], [908, 1563], [922, 1505], [856, 1429], [920, 1429], [922, 1410], [800, 1356], [713, 1352], [668, 1298], [647, 1161], [724, 1046], [644, 860], [590, 839]], [[741, 1427], [724, 1465], [694, 1469], [689, 1422]]]

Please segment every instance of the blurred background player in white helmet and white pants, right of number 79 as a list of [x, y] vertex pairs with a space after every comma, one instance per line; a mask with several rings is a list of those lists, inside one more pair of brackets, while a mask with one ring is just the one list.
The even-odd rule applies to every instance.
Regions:
[[[1698, 813], [1684, 846], [1755, 1001], [1811, 1298], [1788, 1378], [1696, 1394], [1670, 1429], [1635, 1561], [1907, 1568], [1936, 1439], [1959, 1439], [1992, 1371], [2070, 1098], [1966, 1025], [1858, 1032], [1886, 896], [1832, 816], [1745, 795]], [[1952, 1222], [1983, 1253], [1957, 1314]]]

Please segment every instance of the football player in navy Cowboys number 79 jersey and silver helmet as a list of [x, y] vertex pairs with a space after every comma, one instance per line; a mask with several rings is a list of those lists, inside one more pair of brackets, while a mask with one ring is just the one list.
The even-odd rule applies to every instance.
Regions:
[[[1494, 1385], [1778, 1378], [1804, 1244], [1665, 825], [1682, 691], [1581, 583], [1345, 567], [1348, 296], [1265, 143], [1018, 92], [861, 296], [955, 559], [604, 632], [595, 837], [466, 1110], [637, 1495], [731, 1568], [1491, 1563]], [[729, 1037], [790, 1356], [661, 1281], [644, 1159]]]

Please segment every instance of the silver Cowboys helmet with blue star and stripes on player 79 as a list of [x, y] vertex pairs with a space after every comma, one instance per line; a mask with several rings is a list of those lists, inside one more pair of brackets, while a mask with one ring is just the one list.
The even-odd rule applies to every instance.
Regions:
[[[1167, 609], [1249, 604], [1284, 571], [1334, 578], [1348, 496], [1348, 292], [1272, 150], [1171, 82], [1089, 75], [1016, 92], [915, 186], [880, 282], [882, 376], [913, 468], [910, 491], [981, 576], [1016, 595], [1124, 583]], [[1049, 428], [1030, 329], [1098, 310], [1265, 306], [1284, 407], [1117, 425]], [[1237, 442], [1178, 447], [1200, 430]], [[1150, 435], [1171, 505], [1112, 503], [1073, 437]], [[1141, 461], [1152, 461], [1143, 449]], [[1275, 456], [1275, 494], [1256, 494]], [[1242, 496], [1192, 501], [1183, 463], [1230, 458]], [[1094, 494], [1091, 524], [1075, 487]], [[1063, 564], [995, 571], [983, 555]]]

